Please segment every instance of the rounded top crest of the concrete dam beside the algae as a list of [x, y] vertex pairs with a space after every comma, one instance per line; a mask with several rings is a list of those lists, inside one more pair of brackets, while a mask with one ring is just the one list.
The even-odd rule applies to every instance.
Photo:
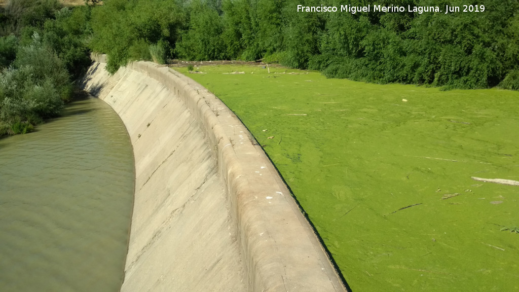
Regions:
[[[106, 61], [104, 55], [92, 59]], [[248, 290], [346, 291], [277, 170], [234, 113], [168, 67], [138, 61], [126, 68], [167, 87], [199, 123], [227, 195]]]

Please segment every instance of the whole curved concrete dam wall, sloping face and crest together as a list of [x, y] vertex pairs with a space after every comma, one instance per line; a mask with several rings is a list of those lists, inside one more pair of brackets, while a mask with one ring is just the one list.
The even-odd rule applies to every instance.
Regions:
[[121, 291], [345, 291], [250, 132], [192, 79], [152, 62], [83, 87], [118, 113], [135, 156]]

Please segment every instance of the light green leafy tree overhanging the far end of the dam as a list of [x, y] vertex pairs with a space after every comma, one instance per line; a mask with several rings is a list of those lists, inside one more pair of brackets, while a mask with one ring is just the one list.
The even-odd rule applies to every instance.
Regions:
[[114, 73], [129, 60], [142, 58], [132, 52], [148, 51], [141, 49], [143, 41], [148, 46], [161, 39], [174, 44], [181, 23], [181, 10], [175, 1], [105, 0], [92, 10], [89, 47], [107, 54], [107, 70]]

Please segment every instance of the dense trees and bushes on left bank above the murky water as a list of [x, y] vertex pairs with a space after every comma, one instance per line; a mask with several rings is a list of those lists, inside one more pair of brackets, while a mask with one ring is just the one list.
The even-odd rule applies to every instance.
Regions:
[[0, 8], [0, 136], [31, 131], [61, 113], [90, 64], [90, 7], [12, 0]]

